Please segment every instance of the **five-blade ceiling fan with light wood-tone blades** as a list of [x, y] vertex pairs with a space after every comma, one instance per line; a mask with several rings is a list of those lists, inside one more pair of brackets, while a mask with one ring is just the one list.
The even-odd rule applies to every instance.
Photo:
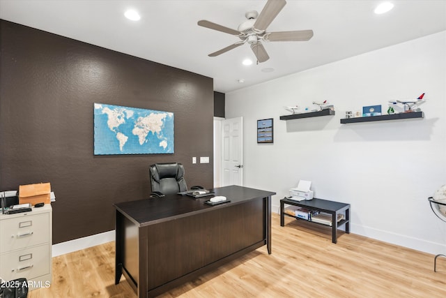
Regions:
[[268, 0], [265, 7], [261, 11], [260, 15], [256, 10], [248, 11], [245, 14], [247, 20], [238, 26], [238, 29], [231, 29], [224, 27], [207, 20], [200, 20], [198, 25], [209, 29], [222, 31], [238, 36], [241, 41], [224, 47], [222, 50], [208, 54], [209, 57], [215, 57], [229, 50], [233, 50], [236, 47], [240, 47], [245, 43], [251, 45], [252, 52], [256, 55], [258, 62], [265, 62], [270, 57], [263, 47], [263, 41], [306, 41], [312, 38], [313, 30], [300, 30], [300, 31], [280, 31], [280, 32], [266, 32], [266, 28], [277, 17], [280, 10], [284, 8], [286, 4], [285, 0]]

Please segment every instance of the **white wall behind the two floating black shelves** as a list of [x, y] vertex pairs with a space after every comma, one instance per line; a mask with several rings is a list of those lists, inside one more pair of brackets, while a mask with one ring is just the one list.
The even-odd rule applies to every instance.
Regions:
[[[351, 232], [445, 253], [446, 223], [427, 200], [446, 184], [445, 53], [443, 31], [226, 94], [226, 118], [244, 117], [244, 185], [277, 192], [279, 211], [289, 188], [311, 180], [316, 198], [351, 204]], [[424, 119], [339, 123], [347, 110], [386, 111], [388, 100], [423, 92]], [[284, 105], [314, 100], [336, 115], [279, 120]], [[257, 144], [256, 120], [266, 118], [274, 144]]]

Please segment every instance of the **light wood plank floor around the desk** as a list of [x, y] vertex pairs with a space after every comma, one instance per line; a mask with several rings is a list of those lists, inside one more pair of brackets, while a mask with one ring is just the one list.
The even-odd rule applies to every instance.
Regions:
[[[272, 215], [266, 246], [160, 297], [446, 297], [446, 258]], [[439, 252], [439, 253], [446, 253]], [[30, 298], [136, 297], [114, 285], [114, 242], [53, 258], [53, 283]]]

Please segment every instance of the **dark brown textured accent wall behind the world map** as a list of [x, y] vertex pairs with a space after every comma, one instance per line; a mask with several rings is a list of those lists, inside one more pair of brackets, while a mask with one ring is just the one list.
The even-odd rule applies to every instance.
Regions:
[[[114, 202], [148, 198], [152, 163], [213, 187], [212, 78], [4, 20], [0, 43], [0, 190], [51, 182], [54, 244], [113, 230]], [[175, 153], [94, 156], [93, 103], [174, 112]]]

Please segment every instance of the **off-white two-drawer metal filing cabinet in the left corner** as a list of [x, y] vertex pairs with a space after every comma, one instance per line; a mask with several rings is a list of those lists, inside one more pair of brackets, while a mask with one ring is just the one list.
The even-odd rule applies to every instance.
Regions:
[[52, 282], [52, 207], [1, 214], [0, 277], [5, 281], [26, 278], [29, 290]]

